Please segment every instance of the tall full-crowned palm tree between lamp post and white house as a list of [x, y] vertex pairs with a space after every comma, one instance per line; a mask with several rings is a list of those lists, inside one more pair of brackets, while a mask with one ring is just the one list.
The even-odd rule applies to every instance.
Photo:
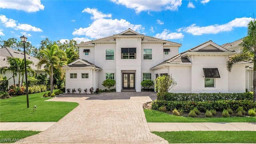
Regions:
[[50, 75], [50, 93], [53, 93], [53, 69], [61, 69], [61, 66], [66, 64], [66, 54], [63, 50], [60, 50], [58, 45], [54, 42], [54, 44], [49, 44], [49, 46], [40, 50], [40, 56], [41, 59], [37, 67], [39, 69], [45, 64], [44, 69]]

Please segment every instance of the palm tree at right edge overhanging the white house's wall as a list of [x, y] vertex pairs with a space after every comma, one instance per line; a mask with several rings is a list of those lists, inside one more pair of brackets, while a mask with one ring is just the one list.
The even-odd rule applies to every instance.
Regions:
[[253, 64], [253, 101], [256, 102], [256, 22], [250, 21], [248, 23], [247, 36], [243, 39], [240, 46], [242, 47], [241, 53], [234, 54], [227, 61], [226, 66], [229, 72], [231, 72], [234, 64], [248, 60], [254, 62]]

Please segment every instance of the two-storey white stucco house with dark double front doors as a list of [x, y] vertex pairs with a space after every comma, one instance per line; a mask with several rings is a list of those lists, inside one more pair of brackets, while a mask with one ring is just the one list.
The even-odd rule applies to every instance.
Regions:
[[76, 46], [79, 59], [63, 66], [66, 89], [106, 89], [102, 82], [114, 79], [116, 92], [140, 92], [143, 80], [171, 75], [177, 85], [170, 92], [245, 92], [248, 62], [228, 72], [226, 61], [236, 52], [212, 41], [179, 54], [181, 44], [144, 36], [129, 28]]

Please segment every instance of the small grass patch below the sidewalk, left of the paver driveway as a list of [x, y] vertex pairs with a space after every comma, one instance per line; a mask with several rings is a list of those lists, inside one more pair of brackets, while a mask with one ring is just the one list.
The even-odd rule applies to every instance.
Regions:
[[38, 134], [37, 131], [9, 130], [0, 131], [0, 143], [23, 142], [23, 138]]

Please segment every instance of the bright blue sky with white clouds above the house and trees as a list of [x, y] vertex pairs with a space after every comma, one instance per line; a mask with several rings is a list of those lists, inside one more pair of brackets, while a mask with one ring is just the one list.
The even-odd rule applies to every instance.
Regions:
[[180, 52], [212, 40], [243, 38], [256, 14], [256, 0], [1, 0], [0, 37], [25, 35], [78, 43], [128, 28], [182, 44]]

